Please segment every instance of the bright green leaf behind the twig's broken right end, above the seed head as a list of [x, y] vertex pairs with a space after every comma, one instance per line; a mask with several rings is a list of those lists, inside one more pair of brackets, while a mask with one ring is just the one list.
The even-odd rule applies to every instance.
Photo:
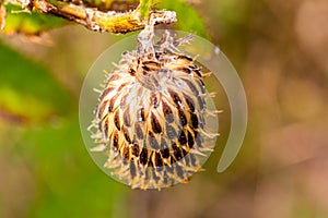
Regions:
[[185, 31], [209, 38], [202, 17], [186, 0], [159, 1], [155, 5], [159, 9], [176, 11], [177, 23], [175, 25], [178, 31]]

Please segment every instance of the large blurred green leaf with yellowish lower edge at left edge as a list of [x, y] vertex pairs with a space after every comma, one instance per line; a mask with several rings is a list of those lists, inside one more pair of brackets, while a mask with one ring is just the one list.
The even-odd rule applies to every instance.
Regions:
[[70, 112], [71, 96], [46, 69], [0, 44], [0, 109], [40, 122]]

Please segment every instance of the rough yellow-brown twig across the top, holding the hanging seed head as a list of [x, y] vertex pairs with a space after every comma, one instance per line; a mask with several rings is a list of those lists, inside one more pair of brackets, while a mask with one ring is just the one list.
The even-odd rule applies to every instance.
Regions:
[[[12, 0], [8, 0], [12, 3]], [[95, 32], [110, 32], [126, 34], [142, 29], [148, 16], [152, 14], [159, 17], [156, 24], [171, 24], [176, 22], [176, 13], [173, 11], [150, 11], [152, 0], [141, 0], [139, 7], [129, 12], [98, 11], [96, 8], [86, 8], [83, 4], [57, 0], [16, 0], [16, 4], [28, 11], [36, 10], [44, 14], [63, 17], [84, 25]]]

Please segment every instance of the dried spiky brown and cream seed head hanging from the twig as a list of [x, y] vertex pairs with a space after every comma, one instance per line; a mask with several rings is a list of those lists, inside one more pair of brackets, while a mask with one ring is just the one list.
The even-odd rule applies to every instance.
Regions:
[[108, 74], [94, 111], [94, 150], [105, 152], [104, 167], [132, 187], [160, 190], [189, 181], [216, 134], [206, 122], [212, 114], [206, 74], [177, 49], [189, 37], [175, 40], [165, 32], [153, 44], [144, 36]]

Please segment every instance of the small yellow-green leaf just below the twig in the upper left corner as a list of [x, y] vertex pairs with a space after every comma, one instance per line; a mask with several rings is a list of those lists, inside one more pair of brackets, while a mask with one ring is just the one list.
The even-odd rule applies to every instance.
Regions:
[[17, 5], [7, 4], [7, 17], [4, 29], [0, 33], [23, 33], [26, 35], [37, 35], [42, 32], [62, 26], [66, 22], [38, 12], [22, 12]]

